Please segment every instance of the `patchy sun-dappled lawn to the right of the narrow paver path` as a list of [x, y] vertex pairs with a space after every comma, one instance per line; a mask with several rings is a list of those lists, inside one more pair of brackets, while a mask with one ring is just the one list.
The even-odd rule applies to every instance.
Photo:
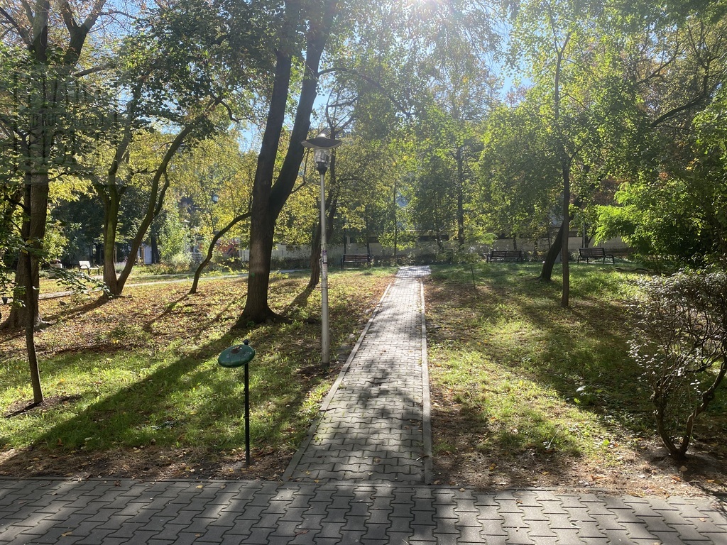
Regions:
[[[723, 490], [727, 395], [698, 419], [686, 467], [665, 457], [628, 357], [638, 273], [571, 267], [571, 307], [539, 265], [440, 267], [427, 280], [435, 471], [483, 488]], [[681, 470], [680, 470], [681, 469]], [[694, 491], [694, 488], [689, 491]]]

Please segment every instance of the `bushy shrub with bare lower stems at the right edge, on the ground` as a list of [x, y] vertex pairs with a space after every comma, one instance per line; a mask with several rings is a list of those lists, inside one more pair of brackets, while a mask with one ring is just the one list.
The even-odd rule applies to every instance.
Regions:
[[683, 459], [727, 372], [727, 273], [681, 271], [640, 288], [631, 355], [651, 387], [659, 435]]

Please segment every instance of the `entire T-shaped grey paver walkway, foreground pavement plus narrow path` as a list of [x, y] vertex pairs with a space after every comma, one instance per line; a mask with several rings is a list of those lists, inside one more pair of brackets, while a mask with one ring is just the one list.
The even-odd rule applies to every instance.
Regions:
[[284, 482], [0, 479], [0, 544], [727, 545], [724, 498], [427, 485], [426, 273], [387, 290]]

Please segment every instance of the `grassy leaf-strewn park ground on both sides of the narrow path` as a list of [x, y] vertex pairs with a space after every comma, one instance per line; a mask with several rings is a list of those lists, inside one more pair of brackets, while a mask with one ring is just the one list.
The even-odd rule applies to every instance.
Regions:
[[[193, 296], [178, 282], [41, 302], [40, 407], [27, 408], [23, 336], [0, 332], [0, 475], [280, 478], [394, 272], [332, 273], [337, 362], [327, 370], [320, 291], [306, 291], [302, 274], [271, 283], [271, 307], [289, 323], [238, 330], [244, 278], [205, 280]], [[724, 387], [699, 417], [688, 461], [675, 464], [654, 433], [627, 344], [626, 303], [643, 271], [573, 267], [566, 310], [559, 283], [539, 283], [538, 272], [479, 263], [433, 267], [425, 280], [436, 483], [727, 492]], [[241, 373], [216, 363], [242, 339], [257, 350], [249, 467]]]

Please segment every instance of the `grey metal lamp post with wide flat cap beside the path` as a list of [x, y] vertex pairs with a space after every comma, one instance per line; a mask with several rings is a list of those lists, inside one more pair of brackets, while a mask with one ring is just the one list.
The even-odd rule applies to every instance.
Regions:
[[343, 142], [329, 138], [325, 133], [300, 142], [304, 148], [313, 150], [316, 170], [321, 174], [321, 366], [328, 368], [331, 350], [328, 327], [328, 249], [326, 248], [326, 170], [331, 163], [331, 150]]

